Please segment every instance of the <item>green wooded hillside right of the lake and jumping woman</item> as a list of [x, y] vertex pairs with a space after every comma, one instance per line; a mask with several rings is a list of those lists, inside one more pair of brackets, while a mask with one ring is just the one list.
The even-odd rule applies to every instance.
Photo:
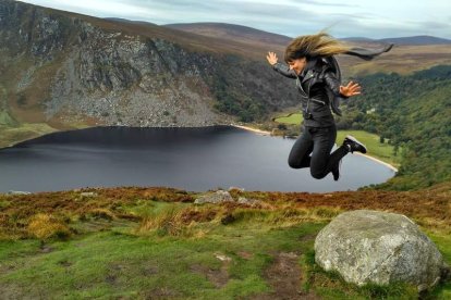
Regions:
[[402, 157], [398, 175], [380, 187], [413, 189], [451, 180], [451, 66], [356, 79], [363, 95], [348, 102], [338, 125], [375, 133]]

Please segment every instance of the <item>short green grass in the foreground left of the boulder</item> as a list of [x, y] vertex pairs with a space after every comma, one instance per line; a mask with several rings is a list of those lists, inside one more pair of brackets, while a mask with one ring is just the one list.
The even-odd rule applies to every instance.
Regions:
[[[304, 233], [316, 225], [303, 225]], [[158, 235], [139, 237], [96, 233], [71, 241], [47, 245], [52, 251], [42, 254], [39, 245], [7, 242], [9, 254], [0, 275], [3, 290], [20, 289], [17, 297], [80, 299], [86, 297], [167, 296], [184, 299], [235, 299], [270, 290], [260, 276], [270, 263], [269, 252], [302, 249], [298, 228], [290, 230], [215, 228], [208, 237], [174, 239]], [[283, 240], [283, 242], [280, 242]], [[32, 247], [33, 247], [32, 246]], [[15, 251], [22, 252], [17, 255]], [[27, 251], [23, 251], [26, 248]], [[34, 251], [33, 251], [34, 250]], [[239, 253], [252, 252], [251, 259]], [[219, 270], [217, 253], [230, 257], [229, 279], [221, 289], [205, 275], [193, 272], [200, 265]]]

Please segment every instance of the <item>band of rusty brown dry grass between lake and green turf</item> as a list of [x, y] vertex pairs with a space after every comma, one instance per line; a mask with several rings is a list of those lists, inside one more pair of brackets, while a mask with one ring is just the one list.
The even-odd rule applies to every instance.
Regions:
[[[82, 197], [81, 193], [85, 191], [94, 191], [97, 196]], [[171, 208], [149, 216], [124, 208], [133, 208], [146, 201], [193, 202], [196, 193], [172, 188], [122, 187], [27, 196], [0, 195], [0, 237], [21, 238], [29, 236], [31, 233], [36, 237], [50, 235], [36, 234], [38, 223], [31, 225], [36, 220], [40, 220], [44, 227], [51, 227], [57, 223], [65, 224], [61, 220], [68, 223], [92, 218], [126, 220], [136, 222], [139, 234], [162, 230], [174, 236], [192, 236], [202, 233], [190, 228], [208, 222], [229, 224], [252, 220], [283, 227], [302, 222], [326, 222], [343, 211], [359, 209], [402, 213], [429, 229], [451, 230], [451, 183], [414, 192], [363, 190], [308, 193], [233, 190], [231, 195], [234, 199], [246, 197], [261, 202], [257, 205], [193, 204], [176, 210]], [[41, 215], [47, 215], [47, 218]]]

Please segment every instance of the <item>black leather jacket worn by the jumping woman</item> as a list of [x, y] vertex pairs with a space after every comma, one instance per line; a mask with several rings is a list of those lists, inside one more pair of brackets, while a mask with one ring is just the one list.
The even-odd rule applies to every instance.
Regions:
[[301, 95], [304, 126], [328, 127], [334, 124], [330, 111], [332, 97], [340, 95], [340, 80], [332, 72], [326, 60], [309, 61], [300, 75], [284, 63], [276, 63], [272, 68], [285, 77], [296, 80], [296, 88]]

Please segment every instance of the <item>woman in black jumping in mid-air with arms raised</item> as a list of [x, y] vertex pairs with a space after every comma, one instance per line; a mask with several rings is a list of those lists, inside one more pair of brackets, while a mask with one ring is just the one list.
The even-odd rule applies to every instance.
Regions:
[[291, 167], [310, 167], [312, 176], [317, 179], [331, 172], [333, 179], [338, 180], [340, 161], [344, 155], [354, 151], [366, 153], [365, 146], [352, 136], [346, 136], [343, 143], [330, 153], [337, 138], [331, 109], [340, 115], [340, 98], [361, 93], [361, 86], [356, 83], [341, 86], [340, 68], [333, 55], [344, 53], [370, 60], [391, 47], [376, 51], [350, 48], [321, 32], [293, 39], [285, 49], [288, 65], [278, 62], [276, 53], [268, 52], [266, 58], [272, 68], [295, 79], [301, 95], [304, 126], [289, 155]]

